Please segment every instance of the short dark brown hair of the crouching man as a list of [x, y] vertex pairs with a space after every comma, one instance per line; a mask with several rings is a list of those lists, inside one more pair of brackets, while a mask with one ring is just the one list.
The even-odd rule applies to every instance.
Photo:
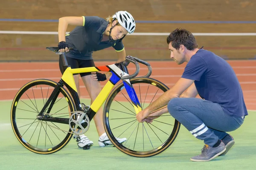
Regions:
[[172, 42], [172, 47], [178, 50], [180, 45], [184, 45], [188, 50], [198, 48], [195, 37], [186, 29], [177, 28], [167, 37], [167, 44]]

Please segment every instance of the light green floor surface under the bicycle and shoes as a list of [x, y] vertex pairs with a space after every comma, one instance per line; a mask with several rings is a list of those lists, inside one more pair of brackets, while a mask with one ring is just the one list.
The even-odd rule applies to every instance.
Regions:
[[[88, 100], [82, 99], [88, 104]], [[78, 149], [71, 139], [62, 150], [50, 155], [32, 153], [16, 139], [11, 123], [12, 102], [0, 102], [0, 170], [255, 170], [256, 111], [249, 111], [244, 124], [230, 134], [236, 144], [225, 156], [209, 162], [192, 162], [190, 157], [201, 153], [204, 143], [181, 126], [175, 142], [163, 153], [149, 158], [128, 156], [115, 147], [99, 147], [98, 134], [92, 121], [85, 133], [94, 145], [90, 150]]]

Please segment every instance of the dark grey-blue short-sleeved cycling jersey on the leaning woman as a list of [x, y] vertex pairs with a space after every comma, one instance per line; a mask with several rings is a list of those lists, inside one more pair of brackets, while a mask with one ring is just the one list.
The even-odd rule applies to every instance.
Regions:
[[67, 57], [76, 59], [92, 59], [93, 51], [113, 47], [116, 51], [122, 51], [122, 40], [102, 41], [103, 32], [108, 26], [108, 21], [100, 17], [83, 17], [83, 26], [77, 26], [66, 36], [69, 47], [73, 47]]

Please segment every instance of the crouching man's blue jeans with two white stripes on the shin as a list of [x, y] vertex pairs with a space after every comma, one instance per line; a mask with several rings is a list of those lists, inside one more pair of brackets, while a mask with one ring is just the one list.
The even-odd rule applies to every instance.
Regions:
[[167, 105], [169, 113], [196, 138], [212, 147], [218, 139], [239, 128], [244, 119], [225, 113], [218, 103], [198, 98], [174, 98]]

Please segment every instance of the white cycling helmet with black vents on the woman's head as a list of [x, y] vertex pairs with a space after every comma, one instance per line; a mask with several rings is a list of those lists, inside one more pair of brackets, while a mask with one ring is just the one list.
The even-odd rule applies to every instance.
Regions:
[[132, 34], [134, 32], [136, 24], [134, 22], [134, 18], [129, 12], [118, 11], [116, 12], [116, 14], [113, 15], [112, 18], [116, 18], [118, 23], [120, 23], [120, 25], [124, 27], [128, 31], [128, 33]]

